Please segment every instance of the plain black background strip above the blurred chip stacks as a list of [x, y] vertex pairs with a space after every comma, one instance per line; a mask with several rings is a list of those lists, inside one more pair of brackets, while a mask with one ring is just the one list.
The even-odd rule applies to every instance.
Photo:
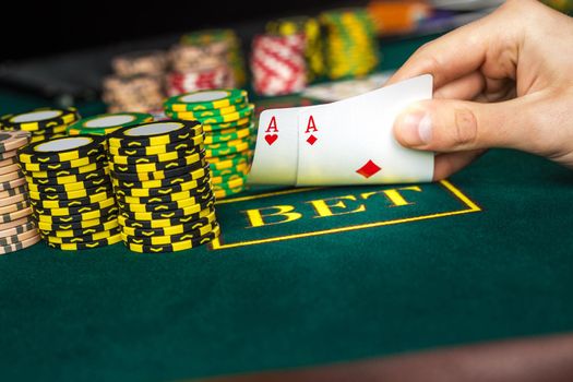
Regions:
[[83, 1], [11, 3], [0, 23], [2, 61], [14, 61], [206, 27], [262, 28], [268, 19], [366, 1]]

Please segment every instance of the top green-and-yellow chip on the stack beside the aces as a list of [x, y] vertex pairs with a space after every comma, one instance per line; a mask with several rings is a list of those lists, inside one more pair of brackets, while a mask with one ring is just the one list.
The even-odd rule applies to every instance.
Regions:
[[246, 100], [247, 91], [238, 88], [199, 91], [170, 97], [164, 107], [175, 112], [202, 111], [243, 104]]

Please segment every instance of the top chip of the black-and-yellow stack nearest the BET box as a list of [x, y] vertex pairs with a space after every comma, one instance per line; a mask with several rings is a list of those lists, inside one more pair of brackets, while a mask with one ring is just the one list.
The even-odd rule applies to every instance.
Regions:
[[202, 135], [198, 121], [157, 121], [116, 130], [108, 136], [110, 147], [145, 147], [188, 141]]

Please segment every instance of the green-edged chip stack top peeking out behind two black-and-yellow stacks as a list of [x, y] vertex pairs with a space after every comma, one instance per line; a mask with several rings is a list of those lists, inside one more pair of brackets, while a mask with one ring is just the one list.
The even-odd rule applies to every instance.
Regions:
[[69, 135], [107, 135], [118, 129], [153, 121], [145, 112], [116, 112], [83, 118], [68, 127]]

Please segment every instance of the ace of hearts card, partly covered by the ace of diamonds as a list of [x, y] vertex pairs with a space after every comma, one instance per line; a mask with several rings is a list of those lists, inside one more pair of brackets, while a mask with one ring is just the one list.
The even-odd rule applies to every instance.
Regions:
[[288, 184], [297, 181], [298, 112], [303, 107], [261, 112], [250, 183]]

